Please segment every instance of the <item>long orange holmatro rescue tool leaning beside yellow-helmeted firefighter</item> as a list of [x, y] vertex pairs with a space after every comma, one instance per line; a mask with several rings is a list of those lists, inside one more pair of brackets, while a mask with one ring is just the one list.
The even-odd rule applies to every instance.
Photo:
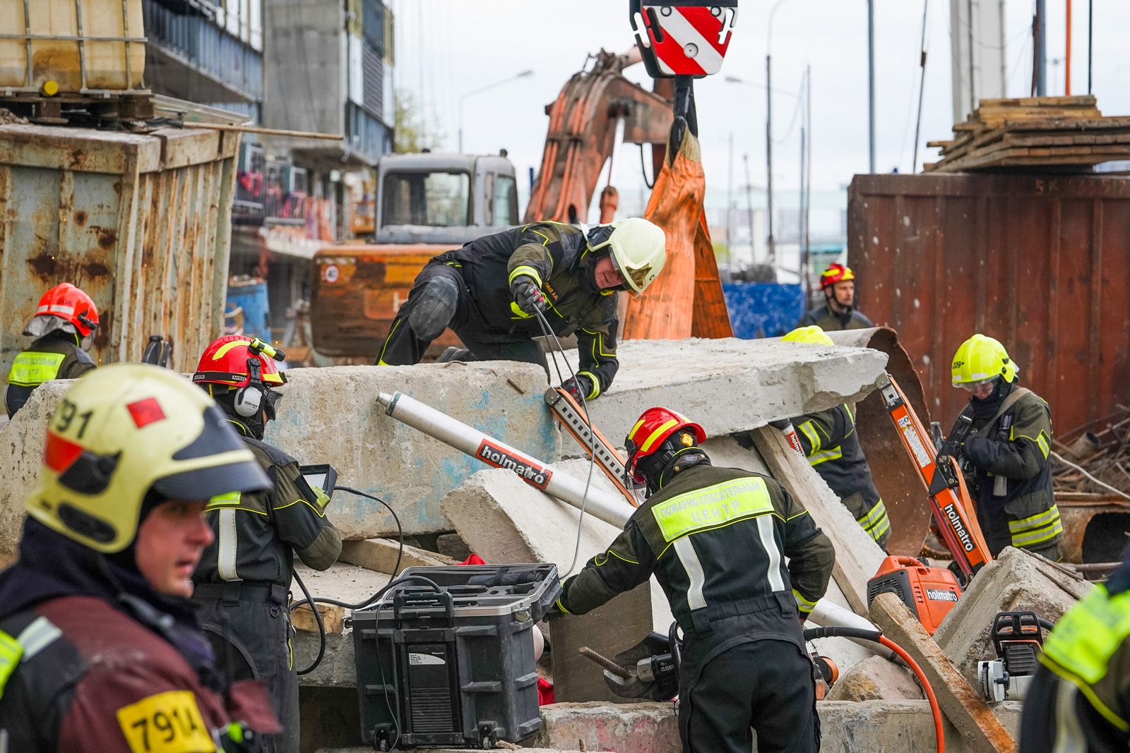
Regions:
[[[903, 391], [889, 374], [879, 380], [879, 392], [903, 446], [919, 471], [922, 485], [930, 496], [930, 509], [941, 540], [954, 555], [963, 576], [968, 578], [991, 561], [992, 557], [974, 517], [973, 501], [965, 488], [962, 471], [953, 457], [960, 437], [951, 435], [940, 449], [936, 448]], [[955, 432], [964, 434], [962, 429]]]

